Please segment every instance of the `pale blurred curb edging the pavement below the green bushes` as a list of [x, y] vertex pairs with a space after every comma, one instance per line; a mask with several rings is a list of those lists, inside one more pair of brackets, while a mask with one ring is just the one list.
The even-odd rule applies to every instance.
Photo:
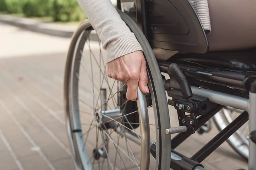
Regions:
[[12, 17], [10, 15], [3, 14], [0, 14], [0, 22], [20, 28], [25, 28], [29, 31], [66, 38], [72, 37], [77, 28], [77, 26], [61, 26], [51, 23], [40, 23], [34, 19]]

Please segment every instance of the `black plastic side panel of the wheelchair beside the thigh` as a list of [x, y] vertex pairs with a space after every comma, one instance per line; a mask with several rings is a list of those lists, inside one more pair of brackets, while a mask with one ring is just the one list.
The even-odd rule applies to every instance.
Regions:
[[149, 0], [148, 40], [152, 48], [206, 53], [206, 35], [188, 0]]

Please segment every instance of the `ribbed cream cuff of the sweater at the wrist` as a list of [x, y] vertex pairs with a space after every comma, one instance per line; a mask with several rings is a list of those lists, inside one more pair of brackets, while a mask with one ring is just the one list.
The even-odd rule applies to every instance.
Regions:
[[106, 49], [108, 51], [107, 62], [111, 62], [118, 57], [132, 53], [134, 51], [142, 51], [140, 43], [134, 34], [109, 42]]

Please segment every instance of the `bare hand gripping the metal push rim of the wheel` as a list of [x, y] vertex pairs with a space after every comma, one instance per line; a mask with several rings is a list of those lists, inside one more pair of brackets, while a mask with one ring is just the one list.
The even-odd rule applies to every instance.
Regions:
[[142, 51], [135, 51], [116, 58], [107, 63], [107, 75], [110, 78], [125, 83], [128, 88], [126, 98], [135, 101], [137, 99], [137, 86], [144, 94], [148, 94], [148, 76], [146, 61]]

